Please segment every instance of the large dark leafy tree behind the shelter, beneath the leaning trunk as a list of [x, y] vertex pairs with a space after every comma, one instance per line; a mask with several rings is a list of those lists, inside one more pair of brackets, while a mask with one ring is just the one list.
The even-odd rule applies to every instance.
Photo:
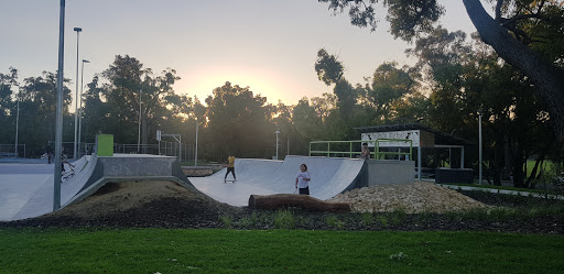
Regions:
[[529, 186], [532, 180], [523, 180], [523, 164], [531, 155], [545, 153], [554, 140], [529, 79], [481, 42], [466, 42], [462, 32], [436, 29], [408, 52], [419, 57], [416, 67], [431, 90], [430, 123], [477, 142], [481, 111], [484, 141], [490, 147], [486, 163], [494, 182], [500, 183], [506, 168], [517, 186]]

